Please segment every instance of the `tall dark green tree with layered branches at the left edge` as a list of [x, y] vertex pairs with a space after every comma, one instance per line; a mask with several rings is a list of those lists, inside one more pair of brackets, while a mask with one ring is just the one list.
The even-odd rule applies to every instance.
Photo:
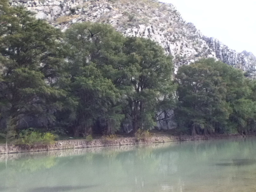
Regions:
[[21, 7], [4, 2], [0, 10], [1, 121], [10, 118], [16, 127], [29, 126], [31, 118], [38, 127], [52, 124], [65, 96], [56, 86], [62, 34]]

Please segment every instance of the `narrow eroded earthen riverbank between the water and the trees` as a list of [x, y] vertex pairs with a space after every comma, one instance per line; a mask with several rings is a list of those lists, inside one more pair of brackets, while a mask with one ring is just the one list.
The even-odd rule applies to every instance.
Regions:
[[138, 140], [135, 137], [118, 137], [116, 139], [94, 139], [87, 141], [85, 139], [78, 140], [59, 140], [52, 145], [8, 145], [6, 150], [5, 145], [0, 145], [0, 154], [6, 153], [24, 153], [35, 151], [48, 151], [72, 148], [92, 148], [92, 147], [105, 147], [105, 146], [121, 146], [121, 145], [136, 145], [136, 144], [151, 144], [151, 143], [164, 143], [174, 141], [189, 141], [189, 140], [208, 140], [208, 139], [222, 139], [222, 138], [236, 138], [255, 136], [255, 134], [241, 135], [241, 134], [212, 134], [212, 135], [180, 135], [173, 136], [165, 133], [153, 133], [152, 136]]

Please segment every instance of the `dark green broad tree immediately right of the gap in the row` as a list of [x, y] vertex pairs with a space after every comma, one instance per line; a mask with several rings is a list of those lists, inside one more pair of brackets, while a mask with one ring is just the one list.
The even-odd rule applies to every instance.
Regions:
[[176, 75], [179, 104], [176, 109], [180, 127], [192, 135], [209, 134], [226, 126], [230, 107], [225, 102], [227, 88], [213, 59], [181, 66]]

